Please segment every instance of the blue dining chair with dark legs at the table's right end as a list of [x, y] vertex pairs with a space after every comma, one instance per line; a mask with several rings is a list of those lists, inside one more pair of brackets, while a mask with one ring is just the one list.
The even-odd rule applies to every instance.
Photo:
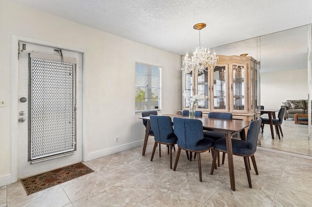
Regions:
[[[253, 165], [254, 165], [254, 171], [256, 174], [258, 173], [257, 165], [255, 163], [254, 153], [257, 148], [257, 141], [258, 141], [258, 135], [261, 127], [261, 119], [257, 119], [250, 122], [248, 133], [246, 140], [241, 139], [231, 139], [232, 140], [232, 151], [233, 155], [243, 156], [244, 162], [245, 162], [245, 169], [246, 174], [248, 178], [248, 184], [249, 188], [252, 187], [252, 181], [250, 177], [250, 163], [249, 163], [249, 157], [251, 157]], [[214, 155], [214, 161], [211, 167], [211, 174], [214, 173], [215, 165], [216, 165], [216, 154], [218, 152], [227, 152], [226, 149], [226, 138], [220, 138], [214, 142], [214, 148], [215, 148], [215, 155]]]

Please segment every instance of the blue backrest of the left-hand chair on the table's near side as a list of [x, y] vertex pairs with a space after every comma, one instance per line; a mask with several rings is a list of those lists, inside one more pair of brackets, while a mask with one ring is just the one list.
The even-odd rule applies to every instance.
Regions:
[[176, 143], [171, 117], [151, 115], [150, 121], [156, 141]]

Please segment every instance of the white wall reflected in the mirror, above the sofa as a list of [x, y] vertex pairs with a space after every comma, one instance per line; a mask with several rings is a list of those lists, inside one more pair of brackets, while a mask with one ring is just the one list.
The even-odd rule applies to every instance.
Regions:
[[286, 100], [308, 99], [308, 70], [261, 73], [261, 105], [278, 109]]

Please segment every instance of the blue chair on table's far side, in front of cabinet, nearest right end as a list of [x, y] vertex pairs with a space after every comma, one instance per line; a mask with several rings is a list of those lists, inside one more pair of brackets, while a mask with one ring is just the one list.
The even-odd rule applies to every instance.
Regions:
[[[224, 120], [232, 120], [233, 115], [231, 113], [223, 113], [223, 112], [210, 112], [208, 114], [208, 118], [215, 118], [215, 119], [224, 119]], [[221, 132], [212, 132], [212, 131], [204, 131], [205, 138], [211, 138], [217, 140], [219, 138], [225, 138], [225, 134]], [[214, 151], [214, 150], [212, 150]], [[214, 152], [212, 152], [214, 153]], [[220, 167], [220, 154], [217, 155], [218, 159], [218, 167]], [[222, 154], [222, 165], [224, 164], [225, 153]]]

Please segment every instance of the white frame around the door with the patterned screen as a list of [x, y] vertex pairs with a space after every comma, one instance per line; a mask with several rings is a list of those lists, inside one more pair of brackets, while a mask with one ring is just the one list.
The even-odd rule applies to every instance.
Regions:
[[82, 53], [82, 160], [84, 161], [87, 157], [85, 147], [87, 146], [87, 139], [85, 138], [84, 130], [84, 113], [85, 113], [85, 102], [84, 102], [84, 77], [85, 77], [85, 56], [86, 52], [84, 49], [76, 48], [72, 46], [62, 45], [58, 43], [52, 43], [44, 40], [29, 38], [20, 35], [12, 35], [12, 49], [11, 49], [11, 183], [15, 183], [18, 180], [18, 45], [19, 41], [25, 41], [33, 44], [40, 44], [44, 46], [55, 47], [64, 50], [71, 50]]

